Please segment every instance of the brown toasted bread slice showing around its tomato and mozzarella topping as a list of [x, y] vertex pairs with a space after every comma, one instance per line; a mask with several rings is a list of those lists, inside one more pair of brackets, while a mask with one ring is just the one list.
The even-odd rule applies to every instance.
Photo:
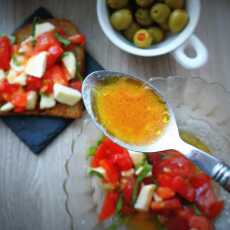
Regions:
[[[69, 20], [66, 19], [49, 19], [47, 22], [52, 23], [56, 28], [63, 28], [67, 35], [74, 35], [78, 33], [78, 29], [73, 25]], [[32, 25], [26, 25], [21, 29], [18, 29], [15, 32], [16, 43], [21, 43], [27, 37], [30, 36], [32, 31]], [[80, 66], [80, 73], [83, 75], [85, 72], [85, 50], [82, 46], [76, 46], [73, 50], [76, 56], [76, 59]], [[80, 118], [83, 113], [82, 101], [78, 102], [74, 106], [67, 106], [60, 103], [57, 103], [54, 108], [46, 110], [32, 110], [25, 111], [23, 113], [15, 112], [0, 112], [0, 116], [10, 116], [10, 115], [35, 115], [35, 116], [53, 116], [53, 117], [63, 117], [69, 119]]]

